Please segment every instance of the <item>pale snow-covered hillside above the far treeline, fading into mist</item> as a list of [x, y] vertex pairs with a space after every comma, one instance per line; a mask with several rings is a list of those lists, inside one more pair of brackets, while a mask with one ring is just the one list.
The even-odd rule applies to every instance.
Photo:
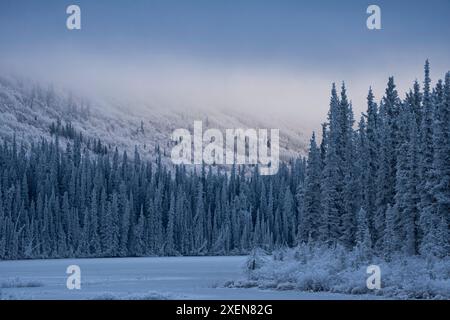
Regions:
[[[126, 102], [124, 102], [126, 101]], [[50, 126], [58, 119], [70, 123], [77, 134], [100, 139], [108, 148], [132, 152], [137, 146], [141, 154], [152, 156], [154, 148], [170, 154], [170, 135], [176, 128], [191, 130], [194, 120], [202, 120], [209, 128], [279, 128], [282, 160], [304, 154], [306, 137], [301, 128], [285, 121], [262, 116], [236, 114], [215, 109], [196, 110], [156, 106], [132, 99], [95, 97], [86, 99], [67, 89], [36, 84], [29, 80], [0, 77], [0, 137], [29, 144], [41, 137], [50, 138]], [[131, 153], [132, 155], [132, 153]]]

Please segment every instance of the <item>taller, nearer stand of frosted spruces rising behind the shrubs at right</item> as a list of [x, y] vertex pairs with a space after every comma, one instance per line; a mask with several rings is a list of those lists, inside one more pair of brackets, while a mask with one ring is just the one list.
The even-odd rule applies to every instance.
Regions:
[[299, 241], [394, 254], [450, 254], [450, 73], [405, 99], [389, 78], [380, 103], [372, 90], [354, 130], [345, 86], [333, 85], [328, 122], [311, 138]]

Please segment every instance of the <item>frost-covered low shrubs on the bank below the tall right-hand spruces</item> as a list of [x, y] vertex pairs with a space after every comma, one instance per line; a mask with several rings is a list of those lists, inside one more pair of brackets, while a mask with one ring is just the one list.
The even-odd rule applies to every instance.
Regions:
[[[280, 259], [280, 256], [282, 259]], [[400, 299], [450, 299], [450, 258], [396, 256], [389, 262], [369, 257], [358, 249], [300, 245], [277, 251], [273, 259], [253, 254], [247, 267], [248, 281], [240, 287], [258, 286], [277, 290], [328, 291], [345, 294], [374, 294]], [[381, 270], [381, 289], [366, 286], [369, 265]]]

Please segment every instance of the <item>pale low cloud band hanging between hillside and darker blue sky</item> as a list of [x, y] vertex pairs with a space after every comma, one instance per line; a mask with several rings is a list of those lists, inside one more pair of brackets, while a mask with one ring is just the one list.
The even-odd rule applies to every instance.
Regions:
[[[421, 80], [422, 65], [384, 66], [360, 72], [287, 68], [282, 64], [233, 64], [169, 56], [105, 58], [88, 55], [34, 54], [5, 57], [3, 69], [54, 83], [94, 97], [133, 105], [212, 110], [219, 108], [283, 119], [299, 128], [318, 130], [326, 119], [332, 82], [345, 81], [355, 118], [365, 111], [372, 86], [379, 99], [390, 75], [399, 75], [399, 93]], [[388, 72], [389, 70], [390, 72]], [[436, 77], [442, 75], [436, 74]]]

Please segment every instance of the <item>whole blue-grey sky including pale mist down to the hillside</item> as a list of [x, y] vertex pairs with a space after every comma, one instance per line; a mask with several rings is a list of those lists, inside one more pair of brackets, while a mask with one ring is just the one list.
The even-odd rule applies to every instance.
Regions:
[[[79, 31], [66, 29], [70, 4], [81, 7]], [[370, 4], [382, 30], [366, 28]], [[442, 77], [449, 21], [449, 0], [1, 0], [0, 63], [91, 79], [95, 70], [97, 82], [314, 121], [331, 82], [345, 80], [360, 111], [369, 86], [379, 97], [394, 75], [407, 89], [426, 58]]]

